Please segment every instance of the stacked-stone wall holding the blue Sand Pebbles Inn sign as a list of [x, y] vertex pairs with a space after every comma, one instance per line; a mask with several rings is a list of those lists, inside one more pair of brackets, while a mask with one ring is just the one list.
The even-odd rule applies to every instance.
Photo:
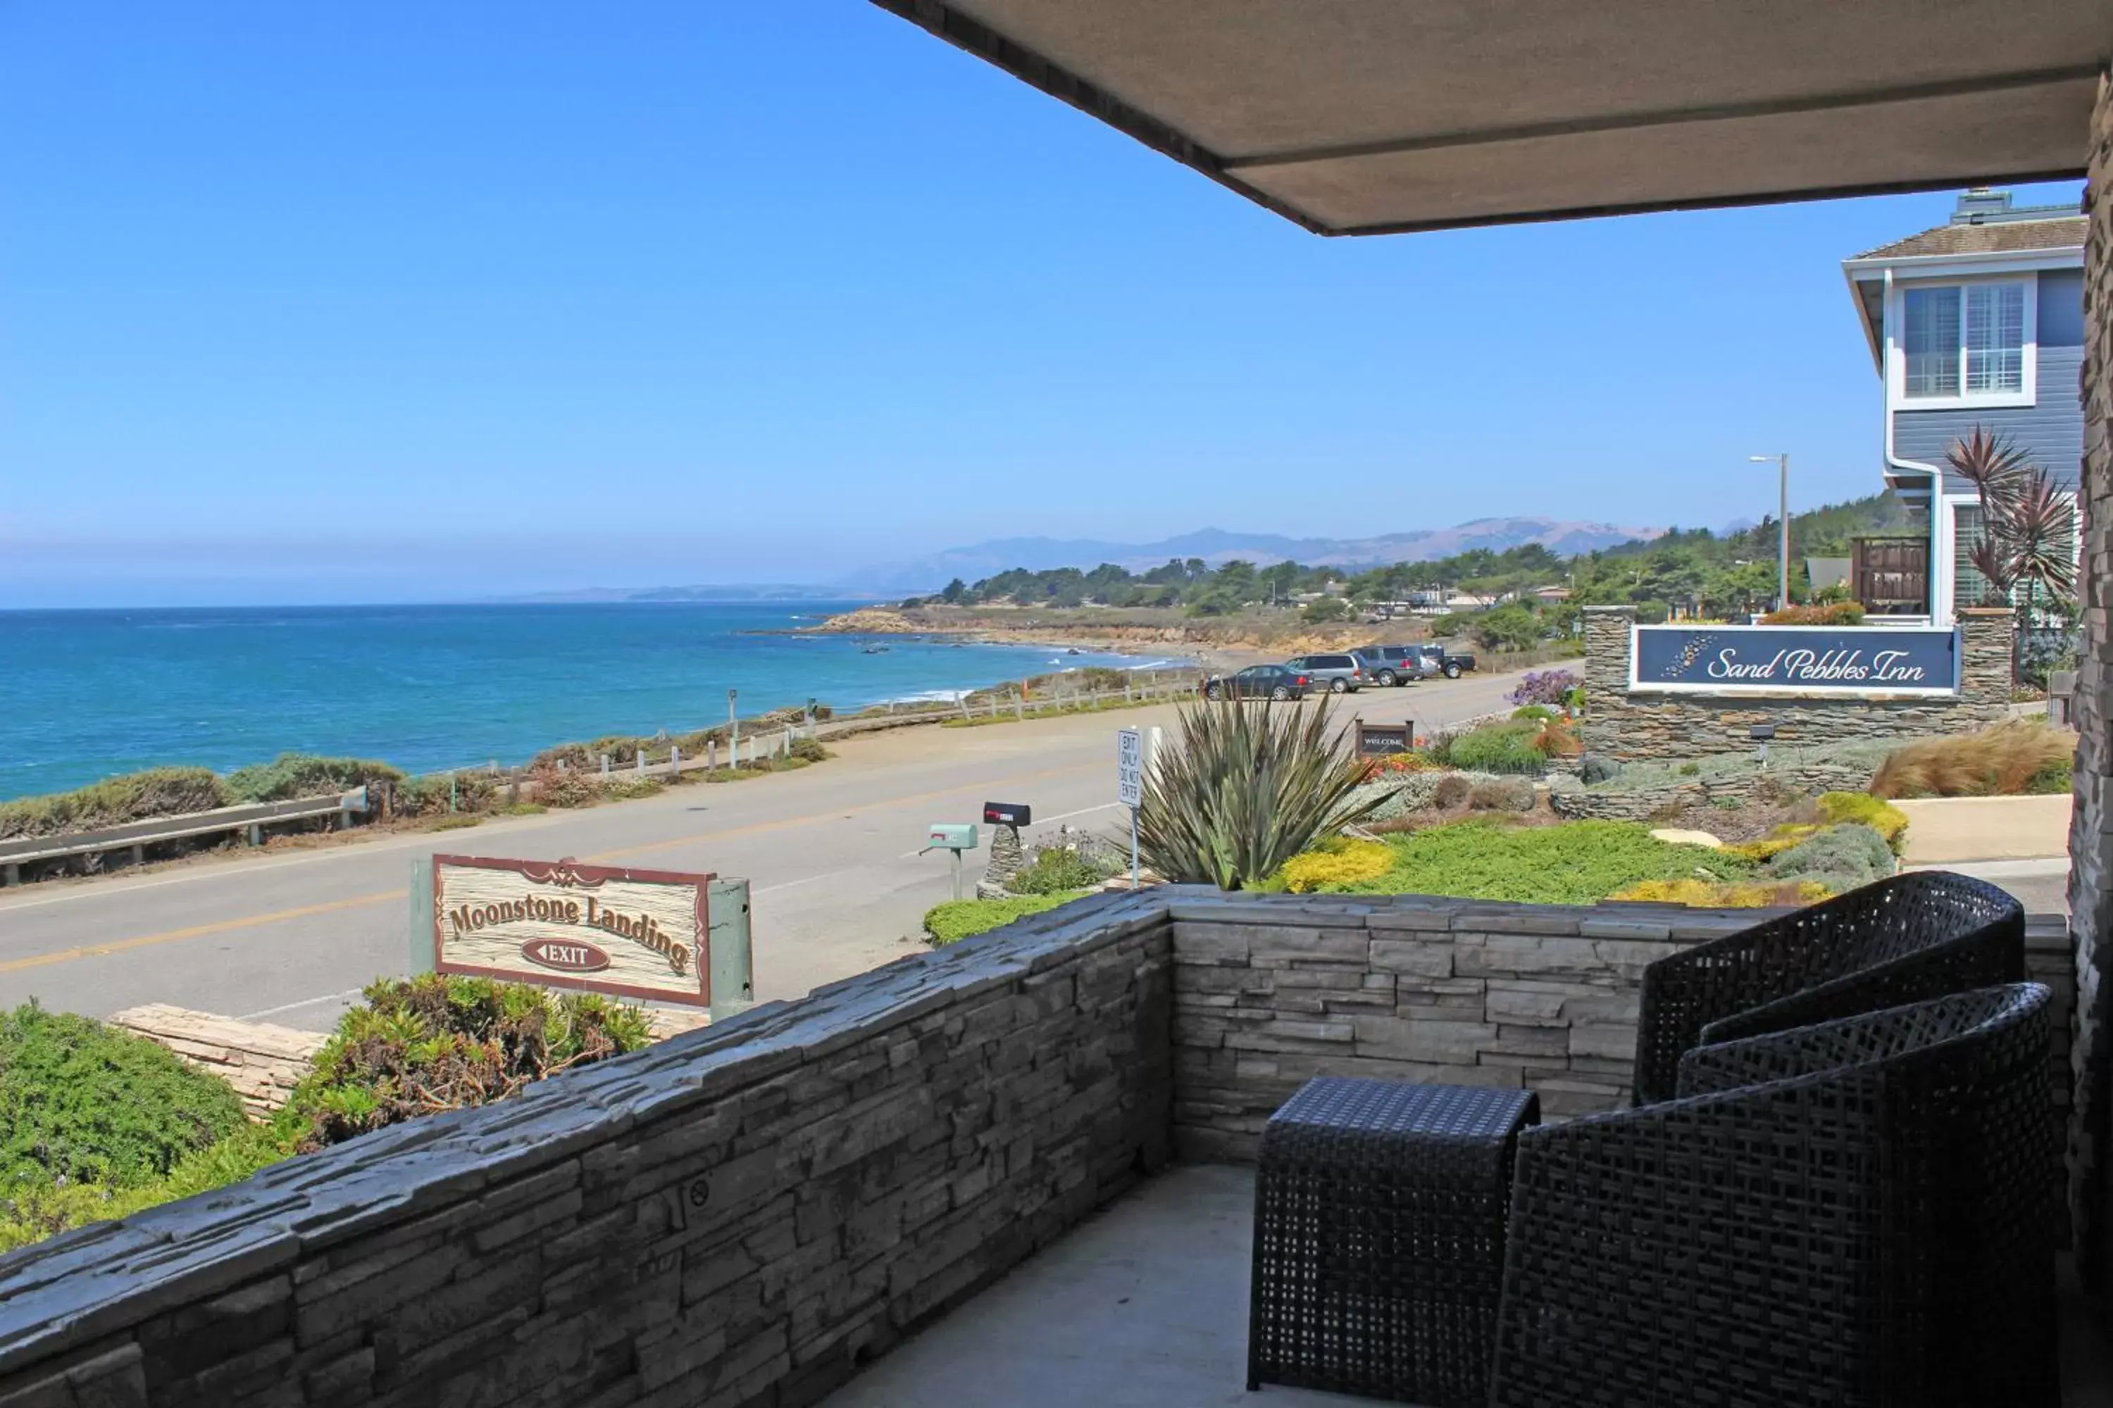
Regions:
[[1629, 692], [1633, 606], [1585, 608], [1585, 751], [1616, 762], [1657, 762], [1752, 751], [1752, 726], [1775, 724], [1777, 747], [1849, 739], [1967, 732], [2009, 713], [2012, 614], [1959, 612], [1959, 697], [1855, 699], [1826, 695]]

